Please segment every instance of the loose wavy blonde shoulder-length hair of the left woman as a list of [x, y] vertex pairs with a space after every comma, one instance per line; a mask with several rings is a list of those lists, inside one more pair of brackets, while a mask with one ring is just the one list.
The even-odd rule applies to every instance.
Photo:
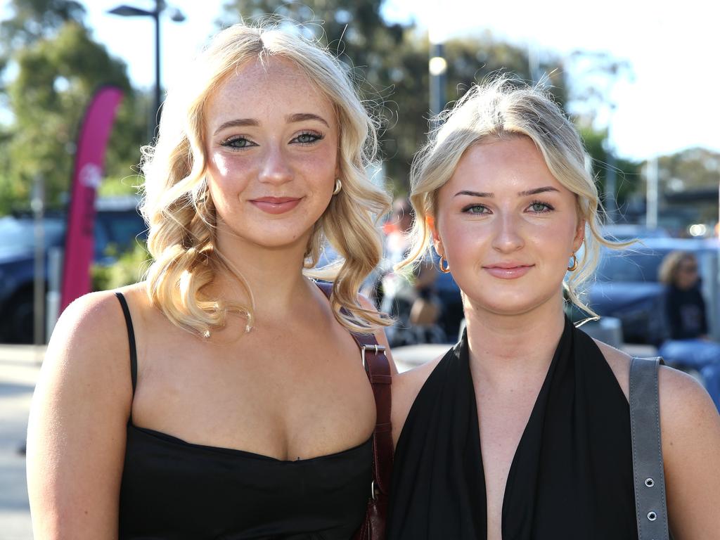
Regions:
[[[377, 153], [377, 127], [348, 69], [285, 24], [235, 24], [215, 35], [188, 66], [184, 80], [168, 93], [156, 145], [143, 148], [140, 210], [154, 259], [146, 276], [148, 295], [174, 324], [202, 336], [225, 325], [228, 312], [243, 315], [250, 330], [254, 312], [248, 282], [215, 242], [215, 208], [205, 178], [205, 106], [243, 64], [271, 57], [300, 68], [333, 104], [338, 120], [343, 189], [315, 223], [302, 271], [334, 280], [330, 303], [336, 319], [349, 330], [367, 332], [388, 324], [377, 312], [361, 307], [357, 297], [361, 282], [382, 257], [377, 220], [390, 208], [390, 197], [366, 174]], [[341, 260], [317, 269], [326, 241]], [[238, 279], [247, 305], [204, 294], [220, 272]]]

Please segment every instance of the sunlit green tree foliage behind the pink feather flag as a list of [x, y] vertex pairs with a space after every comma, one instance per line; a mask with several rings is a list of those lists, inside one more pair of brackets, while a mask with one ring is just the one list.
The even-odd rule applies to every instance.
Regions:
[[132, 174], [146, 125], [145, 117], [136, 113], [140, 100], [125, 63], [111, 58], [104, 45], [93, 40], [81, 5], [14, 0], [14, 8], [16, 17], [1, 29], [4, 53], [10, 42], [22, 46], [13, 46], [7, 54], [15, 75], [4, 89], [12, 120], [0, 128], [0, 150], [7, 156], [0, 169], [0, 213], [26, 206], [37, 176], [45, 181], [49, 206], [65, 202], [78, 130], [100, 86], [112, 84], [125, 93], [108, 144], [107, 174]]

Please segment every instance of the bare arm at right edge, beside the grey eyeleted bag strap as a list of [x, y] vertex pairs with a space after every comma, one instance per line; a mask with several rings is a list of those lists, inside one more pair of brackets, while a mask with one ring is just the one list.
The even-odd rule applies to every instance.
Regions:
[[720, 415], [695, 379], [660, 371], [667, 510], [676, 540], [720, 534]]

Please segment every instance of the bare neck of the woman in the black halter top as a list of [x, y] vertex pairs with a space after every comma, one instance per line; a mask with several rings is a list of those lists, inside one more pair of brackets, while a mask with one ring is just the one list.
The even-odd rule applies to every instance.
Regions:
[[518, 377], [544, 377], [564, 328], [562, 297], [513, 315], [465, 302], [472, 371], [490, 384], [517, 384]]

